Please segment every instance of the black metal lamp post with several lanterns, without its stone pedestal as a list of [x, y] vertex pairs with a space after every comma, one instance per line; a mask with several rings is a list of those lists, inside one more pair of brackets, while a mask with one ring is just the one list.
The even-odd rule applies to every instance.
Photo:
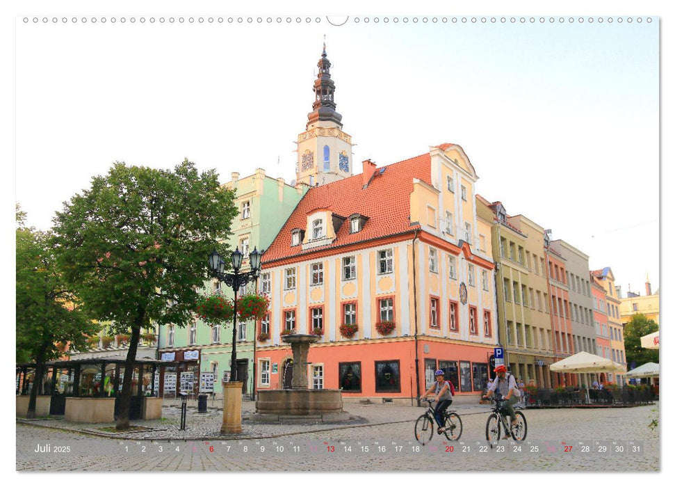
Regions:
[[[229, 381], [237, 380], [237, 292], [239, 288], [251, 280], [257, 280], [260, 274], [260, 259], [263, 253], [258, 252], [257, 248], [249, 254], [251, 270], [249, 272], [239, 272], [241, 261], [244, 255], [236, 248], [231, 255], [232, 269], [234, 273], [225, 272], [225, 261], [222, 260], [217, 250], [213, 250], [209, 255], [209, 267], [216, 279], [225, 282], [228, 287], [234, 291], [234, 315], [232, 317], [232, 362], [229, 372]], [[255, 337], [254, 337], [255, 338]]]

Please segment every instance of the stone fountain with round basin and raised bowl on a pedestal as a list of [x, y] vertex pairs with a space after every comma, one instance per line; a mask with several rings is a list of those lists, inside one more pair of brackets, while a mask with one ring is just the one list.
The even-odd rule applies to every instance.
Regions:
[[340, 422], [350, 420], [342, 410], [339, 389], [309, 389], [307, 354], [318, 335], [284, 335], [293, 351], [291, 389], [258, 390], [256, 412], [249, 420], [258, 422]]

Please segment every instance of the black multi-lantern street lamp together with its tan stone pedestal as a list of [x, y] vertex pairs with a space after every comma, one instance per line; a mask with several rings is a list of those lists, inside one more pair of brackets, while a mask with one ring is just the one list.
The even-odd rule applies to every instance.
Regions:
[[[231, 367], [229, 373], [229, 382], [223, 384], [222, 398], [222, 426], [220, 433], [241, 433], [241, 381], [237, 381], [237, 358], [236, 358], [236, 338], [237, 338], [237, 292], [239, 288], [251, 280], [257, 280], [260, 274], [260, 259], [262, 253], [257, 248], [249, 254], [251, 270], [249, 272], [239, 272], [243, 254], [236, 248], [231, 255], [232, 269], [234, 273], [226, 273], [225, 260], [222, 260], [220, 254], [213, 250], [209, 255], [209, 267], [216, 279], [230, 287], [234, 291], [234, 314], [232, 317], [232, 353]], [[254, 358], [255, 360], [255, 358]], [[255, 379], [255, 378], [254, 378]], [[254, 380], [255, 382], [255, 380]]]

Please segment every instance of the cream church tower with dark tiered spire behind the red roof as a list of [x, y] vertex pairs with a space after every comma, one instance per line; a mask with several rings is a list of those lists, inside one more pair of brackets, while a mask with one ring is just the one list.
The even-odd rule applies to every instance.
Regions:
[[330, 79], [326, 45], [314, 80], [314, 111], [307, 130], [298, 135], [297, 182], [317, 186], [352, 175], [352, 136], [342, 131], [342, 115], [335, 111], [335, 83]]

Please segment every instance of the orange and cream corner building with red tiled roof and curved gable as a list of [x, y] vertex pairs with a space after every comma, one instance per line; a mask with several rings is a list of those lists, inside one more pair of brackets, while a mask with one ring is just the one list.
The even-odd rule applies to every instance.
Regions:
[[409, 404], [436, 369], [457, 393], [482, 392], [497, 330], [477, 179], [462, 147], [443, 144], [311, 188], [263, 255], [272, 305], [257, 388], [290, 383], [281, 334], [294, 330], [320, 334], [310, 387], [342, 388], [345, 400]]

